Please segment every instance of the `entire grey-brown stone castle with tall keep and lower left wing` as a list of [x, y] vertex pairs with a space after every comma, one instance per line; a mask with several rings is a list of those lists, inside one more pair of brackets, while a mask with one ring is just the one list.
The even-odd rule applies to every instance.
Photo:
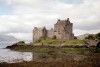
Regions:
[[53, 38], [54, 36], [59, 40], [74, 39], [73, 23], [70, 22], [69, 18], [67, 18], [66, 20], [58, 19], [57, 23], [54, 24], [54, 29], [51, 28], [51, 30], [47, 30], [45, 27], [34, 27], [33, 29], [33, 41], [37, 41], [41, 37]]

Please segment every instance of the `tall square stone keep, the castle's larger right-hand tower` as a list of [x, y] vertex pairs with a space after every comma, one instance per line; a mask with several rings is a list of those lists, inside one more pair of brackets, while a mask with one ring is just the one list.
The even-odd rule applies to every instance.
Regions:
[[54, 25], [54, 34], [57, 39], [71, 40], [73, 39], [72, 27], [73, 24], [70, 22], [69, 18], [67, 18], [67, 20], [58, 19], [57, 23]]

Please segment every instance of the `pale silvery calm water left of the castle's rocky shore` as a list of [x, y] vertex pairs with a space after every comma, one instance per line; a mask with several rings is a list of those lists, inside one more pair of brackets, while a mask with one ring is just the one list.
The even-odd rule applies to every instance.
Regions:
[[21, 61], [31, 61], [31, 52], [16, 52], [10, 49], [5, 49], [8, 45], [12, 45], [15, 42], [0, 42], [0, 63], [15, 63]]

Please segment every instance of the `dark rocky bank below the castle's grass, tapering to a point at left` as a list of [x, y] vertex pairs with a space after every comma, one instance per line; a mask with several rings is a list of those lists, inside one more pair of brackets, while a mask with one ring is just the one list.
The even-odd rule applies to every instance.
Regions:
[[[62, 48], [65, 49], [89, 49], [87, 46], [51, 46], [51, 45], [11, 45], [7, 46], [6, 49], [22, 51], [24, 52], [34, 52], [34, 49], [49, 49], [49, 50], [60, 50]], [[95, 49], [93, 47], [92, 49]]]

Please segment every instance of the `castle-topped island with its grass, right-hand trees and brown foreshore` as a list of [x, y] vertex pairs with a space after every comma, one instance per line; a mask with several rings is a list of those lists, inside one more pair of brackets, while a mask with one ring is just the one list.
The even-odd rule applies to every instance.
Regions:
[[99, 42], [100, 33], [89, 34], [80, 40], [74, 36], [73, 24], [69, 18], [58, 19], [54, 29], [34, 27], [33, 42], [19, 41], [6, 47], [13, 51], [32, 52], [32, 61], [2, 63], [0, 67], [98, 67], [100, 66]]

